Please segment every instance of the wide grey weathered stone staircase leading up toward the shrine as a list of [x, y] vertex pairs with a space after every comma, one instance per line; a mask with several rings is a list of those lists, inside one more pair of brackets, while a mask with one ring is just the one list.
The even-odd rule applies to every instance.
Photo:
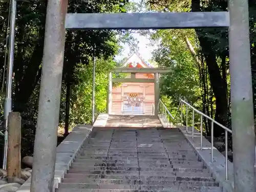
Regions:
[[178, 129], [94, 130], [57, 192], [222, 191]]

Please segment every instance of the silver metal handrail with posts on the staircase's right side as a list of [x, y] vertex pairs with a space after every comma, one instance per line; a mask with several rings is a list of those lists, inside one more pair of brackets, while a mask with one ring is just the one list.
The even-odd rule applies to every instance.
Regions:
[[[164, 109], [167, 110], [165, 104], [159, 100], [159, 104], [162, 104], [164, 106]], [[211, 147], [210, 147], [210, 151], [211, 151], [211, 163], [214, 161], [214, 123], [219, 125], [220, 127], [222, 127], [222, 129], [225, 130], [225, 169], [226, 169], [226, 180], [228, 180], [228, 156], [227, 156], [227, 150], [228, 150], [228, 140], [227, 140], [227, 135], [228, 132], [232, 134], [232, 131], [230, 129], [228, 129], [226, 126], [220, 124], [219, 122], [217, 122], [216, 120], [210, 118], [209, 116], [205, 115], [204, 113], [202, 113], [201, 111], [198, 111], [196, 108], [194, 108], [194, 106], [190, 105], [189, 103], [187, 103], [184, 100], [180, 100], [180, 104], [178, 106], [178, 109], [176, 111], [176, 115], [175, 118], [173, 118], [173, 126], [175, 123], [175, 119], [177, 117], [178, 111], [179, 109], [181, 109], [181, 126], [182, 126], [182, 113], [183, 113], [183, 105], [186, 105], [186, 132], [188, 131], [188, 127], [187, 127], [187, 121], [188, 121], [188, 108], [190, 108], [192, 110], [192, 140], [194, 141], [194, 130], [195, 130], [195, 112], [198, 113], [200, 115], [200, 136], [201, 136], [201, 151], [203, 150], [203, 117], [207, 118], [208, 120], [211, 121]], [[159, 105], [160, 106], [160, 105]], [[160, 107], [159, 107], [160, 109]], [[168, 111], [168, 110], [167, 110]], [[169, 111], [168, 111], [168, 114]], [[171, 114], [170, 114], [171, 115]], [[178, 126], [178, 123], [176, 124]]]

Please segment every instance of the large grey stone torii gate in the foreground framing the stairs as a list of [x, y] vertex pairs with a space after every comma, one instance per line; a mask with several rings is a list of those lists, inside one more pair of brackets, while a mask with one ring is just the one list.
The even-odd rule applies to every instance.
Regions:
[[[68, 0], [48, 0], [31, 191], [53, 188], [66, 29], [229, 27], [234, 190], [255, 190], [248, 1], [229, 0], [229, 12], [66, 14]], [[66, 22], [65, 22], [66, 18]]]

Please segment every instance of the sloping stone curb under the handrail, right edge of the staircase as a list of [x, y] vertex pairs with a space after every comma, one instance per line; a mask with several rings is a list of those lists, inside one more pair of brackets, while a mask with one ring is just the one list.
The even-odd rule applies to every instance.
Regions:
[[216, 181], [223, 187], [223, 192], [234, 191], [234, 180], [233, 180], [233, 163], [228, 161], [228, 181], [226, 181], [226, 164], [225, 157], [214, 147], [214, 160], [211, 163], [211, 150], [210, 142], [203, 137], [203, 150], [201, 151], [201, 134], [197, 130], [194, 130], [194, 141], [192, 140], [192, 127], [179, 127], [181, 133], [186, 137], [188, 142], [193, 146], [197, 154], [207, 165], [210, 173], [216, 178]]

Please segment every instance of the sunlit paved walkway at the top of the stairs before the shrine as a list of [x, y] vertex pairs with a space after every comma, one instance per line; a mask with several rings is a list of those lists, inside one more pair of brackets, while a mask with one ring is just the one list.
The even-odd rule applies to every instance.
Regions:
[[162, 127], [160, 120], [155, 116], [145, 115], [109, 115], [106, 127]]

